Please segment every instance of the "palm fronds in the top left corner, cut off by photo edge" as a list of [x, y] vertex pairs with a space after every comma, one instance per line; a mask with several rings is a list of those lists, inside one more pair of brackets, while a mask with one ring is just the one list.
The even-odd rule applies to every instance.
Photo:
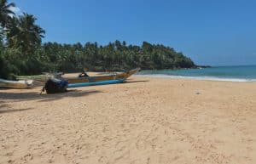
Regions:
[[15, 7], [15, 3], [8, 3], [7, 0], [0, 0], [0, 25], [4, 28], [9, 24], [12, 15], [15, 15], [10, 8]]

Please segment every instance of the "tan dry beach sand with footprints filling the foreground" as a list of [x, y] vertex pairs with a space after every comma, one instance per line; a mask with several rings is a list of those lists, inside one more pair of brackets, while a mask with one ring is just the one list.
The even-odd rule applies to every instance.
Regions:
[[256, 83], [0, 90], [0, 163], [256, 163]]

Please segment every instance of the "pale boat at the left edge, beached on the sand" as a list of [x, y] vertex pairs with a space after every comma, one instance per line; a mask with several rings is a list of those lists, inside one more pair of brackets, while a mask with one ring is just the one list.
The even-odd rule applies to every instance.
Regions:
[[32, 88], [32, 80], [10, 81], [0, 79], [0, 88], [26, 89]]

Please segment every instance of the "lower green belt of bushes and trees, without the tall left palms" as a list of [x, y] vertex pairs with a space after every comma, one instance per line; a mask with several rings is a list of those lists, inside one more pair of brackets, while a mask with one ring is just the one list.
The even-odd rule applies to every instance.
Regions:
[[[98, 46], [87, 42], [84, 46], [46, 42], [26, 58], [20, 48], [4, 48], [2, 72], [17, 75], [35, 75], [43, 71], [124, 71], [135, 67], [142, 69], [180, 69], [194, 68], [193, 61], [173, 48], [143, 42], [135, 45], [109, 42]], [[2, 61], [2, 62], [3, 62]], [[6, 67], [6, 65], [9, 65]], [[3, 66], [2, 66], [3, 67]], [[1, 75], [2, 75], [1, 72]]]

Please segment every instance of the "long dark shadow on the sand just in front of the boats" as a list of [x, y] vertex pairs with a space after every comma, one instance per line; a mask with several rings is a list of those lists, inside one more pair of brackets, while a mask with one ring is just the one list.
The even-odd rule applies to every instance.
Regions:
[[53, 101], [58, 99], [63, 99], [67, 97], [81, 97], [88, 96], [93, 93], [102, 93], [101, 91], [89, 90], [69, 90], [66, 93], [55, 93], [55, 94], [39, 94], [38, 92], [24, 92], [24, 93], [10, 93], [10, 92], [1, 92], [0, 99], [12, 100], [12, 101], [27, 101], [27, 100], [40, 100], [40, 101]]

